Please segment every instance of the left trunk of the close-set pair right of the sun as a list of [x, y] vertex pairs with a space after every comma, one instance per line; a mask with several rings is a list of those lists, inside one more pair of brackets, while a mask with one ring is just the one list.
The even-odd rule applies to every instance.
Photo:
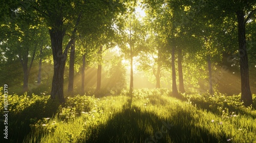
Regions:
[[177, 83], [176, 83], [176, 71], [175, 71], [175, 46], [172, 46], [172, 78], [173, 78], [173, 85], [172, 85], [173, 96], [179, 97]]

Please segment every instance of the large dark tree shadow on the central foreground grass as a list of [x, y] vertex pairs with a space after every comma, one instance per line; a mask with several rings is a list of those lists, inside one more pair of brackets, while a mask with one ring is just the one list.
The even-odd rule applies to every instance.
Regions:
[[127, 103], [106, 124], [94, 127], [83, 142], [226, 142], [226, 136], [211, 134], [196, 122], [186, 111], [165, 119]]

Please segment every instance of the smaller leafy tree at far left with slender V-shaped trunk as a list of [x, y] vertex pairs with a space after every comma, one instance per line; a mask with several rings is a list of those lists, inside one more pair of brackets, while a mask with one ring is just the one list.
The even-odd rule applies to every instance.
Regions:
[[[26, 12], [20, 8], [16, 10], [16, 13], [26, 15]], [[2, 44], [6, 49], [4, 53], [8, 58], [9, 56], [16, 57], [23, 67], [23, 92], [29, 91], [30, 70], [39, 47], [40, 37], [45, 35], [41, 23], [35, 24], [36, 22], [30, 18], [27, 17], [25, 20], [21, 17], [15, 20], [10, 18], [8, 25], [2, 25], [8, 31], [4, 35]]]

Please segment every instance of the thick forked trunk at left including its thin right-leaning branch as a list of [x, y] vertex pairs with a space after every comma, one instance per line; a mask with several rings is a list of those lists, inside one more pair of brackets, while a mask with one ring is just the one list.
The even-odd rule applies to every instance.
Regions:
[[51, 15], [50, 17], [54, 19], [53, 27], [49, 29], [54, 64], [51, 99], [58, 99], [59, 103], [64, 103], [65, 99], [63, 94], [63, 82], [65, 64], [68, 55], [68, 50], [75, 38], [77, 25], [81, 18], [81, 13], [78, 15], [75, 28], [72, 31], [71, 39], [69, 43], [66, 45], [64, 52], [62, 51], [62, 42], [63, 37], [66, 34], [66, 29], [63, 28], [63, 17], [59, 15]]

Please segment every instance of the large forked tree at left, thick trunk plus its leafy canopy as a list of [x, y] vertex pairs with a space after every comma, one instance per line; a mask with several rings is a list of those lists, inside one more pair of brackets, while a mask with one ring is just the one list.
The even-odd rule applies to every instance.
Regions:
[[[54, 74], [52, 81], [51, 98], [58, 99], [60, 103], [65, 102], [63, 97], [63, 74], [68, 50], [73, 43], [81, 17], [90, 12], [97, 17], [97, 12], [104, 9], [110, 12], [114, 4], [119, 2], [106, 1], [36, 1], [32, 7], [37, 11], [39, 17], [43, 18], [48, 27], [51, 38]], [[86, 18], [86, 16], [84, 16]], [[104, 16], [103, 16], [104, 17]], [[69, 42], [63, 50], [63, 38], [66, 32], [71, 33]]]

